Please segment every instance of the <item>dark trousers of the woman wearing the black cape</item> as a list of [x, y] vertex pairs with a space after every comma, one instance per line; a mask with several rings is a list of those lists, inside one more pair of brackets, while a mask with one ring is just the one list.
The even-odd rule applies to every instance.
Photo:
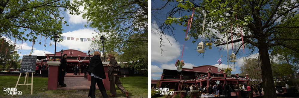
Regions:
[[103, 98], [108, 98], [105, 86], [103, 84], [103, 80], [99, 79], [99, 78], [94, 78], [94, 76], [91, 76], [90, 89], [89, 89], [88, 97], [90, 96], [91, 98], [95, 98], [95, 83], [97, 83], [97, 87], [99, 87]]

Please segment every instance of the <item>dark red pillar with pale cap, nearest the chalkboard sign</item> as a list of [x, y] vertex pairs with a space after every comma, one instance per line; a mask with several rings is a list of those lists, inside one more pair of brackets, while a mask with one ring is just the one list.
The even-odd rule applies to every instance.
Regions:
[[57, 90], [60, 61], [48, 61], [47, 64], [49, 66], [48, 90]]

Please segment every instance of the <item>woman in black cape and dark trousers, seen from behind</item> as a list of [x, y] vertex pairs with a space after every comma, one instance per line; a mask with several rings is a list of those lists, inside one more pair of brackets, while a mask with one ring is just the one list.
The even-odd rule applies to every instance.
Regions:
[[100, 59], [100, 52], [94, 51], [94, 56], [91, 57], [91, 60], [89, 62], [88, 73], [91, 76], [91, 82], [90, 82], [90, 89], [88, 97], [95, 98], [95, 83], [97, 83], [97, 86], [99, 87], [102, 96], [104, 98], [108, 98], [108, 95], [106, 93], [105, 86], [103, 84], [103, 79], [106, 79], [104, 66], [102, 63], [102, 60]]

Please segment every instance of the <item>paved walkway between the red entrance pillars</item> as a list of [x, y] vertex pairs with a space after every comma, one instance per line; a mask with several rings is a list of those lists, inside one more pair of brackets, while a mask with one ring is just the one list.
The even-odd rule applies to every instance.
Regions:
[[[90, 81], [84, 78], [84, 74], [74, 75], [74, 73], [67, 73], [64, 77], [64, 83], [66, 87], [57, 87], [57, 90], [82, 90], [89, 91]], [[99, 90], [96, 84], [96, 90]]]

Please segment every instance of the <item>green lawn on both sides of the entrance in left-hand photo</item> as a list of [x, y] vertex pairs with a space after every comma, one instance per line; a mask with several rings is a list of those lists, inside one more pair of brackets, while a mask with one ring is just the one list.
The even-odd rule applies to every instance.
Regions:
[[[19, 76], [1, 76], [0, 75], [0, 88], [10, 88], [15, 87]], [[25, 77], [21, 77], [19, 84], [23, 84]], [[123, 86], [129, 91], [131, 98], [143, 98], [148, 97], [147, 90], [147, 77], [126, 77], [120, 78]], [[31, 77], [29, 78], [29, 83], [31, 83]], [[26, 91], [26, 86], [17, 86], [18, 91], [22, 91], [22, 95], [7, 95], [3, 94], [4, 91], [0, 91], [0, 97], [60, 97], [60, 98], [73, 98], [73, 97], [87, 97], [89, 91], [64, 91], [64, 90], [47, 90], [48, 78], [33, 77], [33, 94], [31, 95], [31, 85], [28, 85], [28, 91]], [[115, 97], [125, 97], [121, 91], [116, 87]], [[106, 90], [107, 94], [110, 95], [110, 91]], [[99, 90], [95, 92], [96, 97], [102, 97]]]

